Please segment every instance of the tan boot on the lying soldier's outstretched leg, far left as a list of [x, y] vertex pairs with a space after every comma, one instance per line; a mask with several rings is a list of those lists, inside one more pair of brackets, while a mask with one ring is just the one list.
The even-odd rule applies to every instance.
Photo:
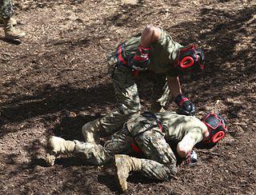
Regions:
[[62, 137], [51, 136], [47, 145], [46, 163], [54, 165], [55, 158], [59, 153], [72, 153], [74, 146], [74, 141], [66, 141]]

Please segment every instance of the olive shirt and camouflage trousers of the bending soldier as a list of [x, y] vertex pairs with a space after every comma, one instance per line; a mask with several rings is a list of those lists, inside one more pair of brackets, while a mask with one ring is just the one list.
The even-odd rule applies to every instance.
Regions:
[[[124, 55], [127, 60], [134, 57], [140, 42], [141, 37], [137, 36], [128, 38], [123, 43]], [[178, 42], [174, 42], [165, 30], [162, 30], [161, 38], [150, 46], [150, 64], [147, 70], [155, 74], [166, 74], [167, 77], [178, 77], [178, 73], [174, 70], [172, 64], [181, 47]], [[108, 64], [109, 73], [114, 84], [114, 92], [118, 100], [118, 109], [102, 117], [100, 123], [106, 133], [112, 134], [120, 129], [130, 117], [140, 113], [141, 104], [133, 72], [130, 67], [118, 63], [116, 51], [110, 54]], [[170, 90], [166, 83], [163, 87], [162, 97], [158, 99], [161, 106], [166, 105], [169, 93]]]

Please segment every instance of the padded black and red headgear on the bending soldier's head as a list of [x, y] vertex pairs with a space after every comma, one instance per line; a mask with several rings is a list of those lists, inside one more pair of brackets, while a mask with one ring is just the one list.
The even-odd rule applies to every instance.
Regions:
[[180, 49], [174, 67], [180, 74], [197, 73], [204, 70], [204, 61], [202, 50], [191, 44]]

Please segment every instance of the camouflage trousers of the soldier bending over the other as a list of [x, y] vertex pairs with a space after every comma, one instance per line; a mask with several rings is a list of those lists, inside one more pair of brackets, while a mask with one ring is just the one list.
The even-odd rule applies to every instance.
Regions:
[[[138, 95], [138, 86], [132, 70], [126, 66], [118, 65], [115, 54], [110, 55], [108, 63], [108, 71], [114, 85], [118, 108], [102, 117], [100, 122], [106, 133], [113, 134], [122, 128], [125, 121], [140, 114], [141, 104]], [[169, 94], [170, 90], [166, 82], [165, 86], [163, 86], [162, 97], [154, 102], [155, 105], [159, 105], [159, 109], [152, 110], [153, 112], [158, 112], [161, 107], [166, 105]]]

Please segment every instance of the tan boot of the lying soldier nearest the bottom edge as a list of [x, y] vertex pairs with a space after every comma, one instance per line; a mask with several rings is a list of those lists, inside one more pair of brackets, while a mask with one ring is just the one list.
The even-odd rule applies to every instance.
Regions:
[[122, 192], [127, 190], [127, 181], [131, 171], [141, 170], [142, 161], [136, 157], [130, 157], [124, 154], [117, 154], [114, 156], [114, 163], [117, 171], [117, 177]]

